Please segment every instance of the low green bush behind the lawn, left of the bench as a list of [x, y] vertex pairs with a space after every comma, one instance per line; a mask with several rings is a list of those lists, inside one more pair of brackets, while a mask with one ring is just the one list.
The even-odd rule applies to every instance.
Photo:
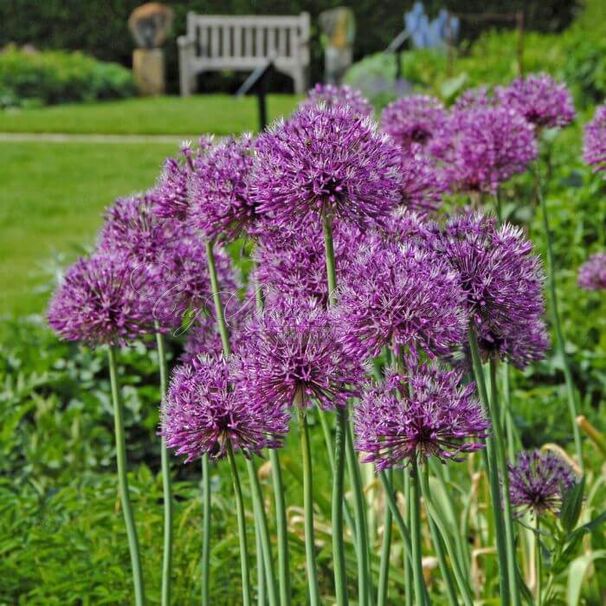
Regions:
[[80, 52], [0, 53], [0, 106], [50, 105], [133, 95], [129, 70]]

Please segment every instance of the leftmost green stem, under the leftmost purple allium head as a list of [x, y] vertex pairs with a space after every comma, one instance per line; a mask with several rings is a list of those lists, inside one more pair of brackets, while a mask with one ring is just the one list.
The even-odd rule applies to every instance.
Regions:
[[145, 590], [143, 586], [143, 572], [141, 570], [141, 556], [139, 554], [139, 540], [137, 539], [137, 528], [128, 493], [128, 476], [126, 470], [126, 438], [124, 437], [124, 414], [122, 400], [120, 399], [120, 388], [118, 385], [118, 372], [116, 367], [116, 349], [108, 349], [109, 380], [111, 383], [112, 402], [114, 405], [114, 430], [116, 437], [116, 463], [118, 467], [118, 488], [126, 534], [128, 535], [128, 548], [130, 551], [130, 563], [132, 567], [133, 584], [135, 586], [135, 604], [145, 604]]

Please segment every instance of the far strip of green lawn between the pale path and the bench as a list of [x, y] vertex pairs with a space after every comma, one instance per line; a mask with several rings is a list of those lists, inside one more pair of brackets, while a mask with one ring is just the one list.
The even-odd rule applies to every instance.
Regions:
[[[293, 95], [270, 95], [270, 118], [290, 113]], [[0, 132], [228, 135], [257, 129], [254, 97], [157, 97], [0, 111]]]

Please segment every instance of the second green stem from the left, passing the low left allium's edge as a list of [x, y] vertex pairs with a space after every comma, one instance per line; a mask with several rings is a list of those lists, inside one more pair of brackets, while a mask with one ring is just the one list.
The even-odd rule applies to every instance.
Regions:
[[[164, 337], [158, 332], [156, 323], [156, 345], [158, 349], [158, 366], [160, 369], [160, 394], [164, 399], [168, 387], [168, 369]], [[172, 569], [172, 533], [173, 533], [173, 498], [170, 485], [170, 459], [164, 438], [160, 450], [162, 468], [162, 491], [164, 497], [164, 553], [162, 557], [162, 606], [170, 606], [170, 584]]]

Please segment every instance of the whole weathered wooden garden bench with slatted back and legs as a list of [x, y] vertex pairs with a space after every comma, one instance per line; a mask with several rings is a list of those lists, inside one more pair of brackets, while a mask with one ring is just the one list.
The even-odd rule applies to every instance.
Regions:
[[270, 59], [294, 81], [296, 93], [307, 89], [308, 13], [295, 16], [223, 16], [187, 14], [187, 35], [177, 39], [181, 95], [196, 90], [198, 74], [252, 71]]

